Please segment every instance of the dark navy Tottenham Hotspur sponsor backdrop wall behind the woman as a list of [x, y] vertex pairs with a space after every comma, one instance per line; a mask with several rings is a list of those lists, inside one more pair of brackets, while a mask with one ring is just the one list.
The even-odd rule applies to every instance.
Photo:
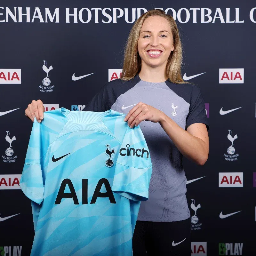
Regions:
[[46, 110], [83, 109], [120, 77], [129, 31], [154, 8], [178, 24], [182, 76], [202, 90], [210, 120], [208, 161], [184, 159], [191, 253], [256, 254], [256, 2], [2, 0], [0, 255], [29, 255], [34, 237], [30, 202], [19, 187], [32, 128], [25, 108], [41, 99]]

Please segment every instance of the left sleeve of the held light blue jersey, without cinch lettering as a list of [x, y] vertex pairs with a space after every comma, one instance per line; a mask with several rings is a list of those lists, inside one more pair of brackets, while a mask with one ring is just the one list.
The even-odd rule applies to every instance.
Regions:
[[44, 200], [44, 160], [49, 145], [55, 140], [67, 122], [69, 112], [65, 108], [44, 113], [41, 123], [34, 119], [25, 164], [20, 179], [20, 188], [33, 202]]

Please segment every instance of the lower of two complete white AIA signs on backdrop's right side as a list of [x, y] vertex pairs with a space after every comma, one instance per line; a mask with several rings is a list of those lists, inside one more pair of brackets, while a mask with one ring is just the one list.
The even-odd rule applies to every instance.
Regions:
[[242, 188], [243, 172], [219, 172], [219, 188]]

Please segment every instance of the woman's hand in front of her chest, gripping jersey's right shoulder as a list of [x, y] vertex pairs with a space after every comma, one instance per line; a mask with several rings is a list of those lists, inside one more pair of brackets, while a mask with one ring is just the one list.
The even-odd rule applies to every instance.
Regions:
[[163, 118], [164, 112], [148, 104], [139, 102], [128, 112], [124, 121], [128, 121], [128, 126], [133, 128], [134, 126], [138, 126], [141, 121], [146, 120], [158, 123], [163, 120]]

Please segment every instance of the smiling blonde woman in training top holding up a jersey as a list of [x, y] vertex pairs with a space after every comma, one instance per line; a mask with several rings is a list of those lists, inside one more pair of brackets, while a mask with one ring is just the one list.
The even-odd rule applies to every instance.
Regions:
[[[133, 235], [134, 255], [191, 255], [182, 156], [206, 162], [209, 125], [200, 89], [183, 81], [181, 63], [175, 21], [164, 11], [148, 11], [128, 37], [122, 78], [105, 84], [84, 108], [126, 113], [124, 121], [130, 128], [140, 124], [148, 144], [153, 171]], [[25, 113], [41, 122], [43, 111], [42, 101], [33, 100]]]

